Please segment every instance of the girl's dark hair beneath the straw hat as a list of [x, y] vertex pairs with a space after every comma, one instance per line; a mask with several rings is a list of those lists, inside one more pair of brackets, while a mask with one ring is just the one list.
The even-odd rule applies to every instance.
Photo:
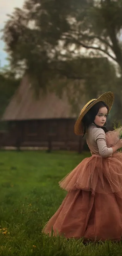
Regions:
[[[96, 104], [94, 104], [94, 106], [91, 107], [91, 109], [84, 115], [84, 117], [82, 119], [82, 124], [83, 124], [83, 128], [84, 128], [84, 135], [85, 135], [86, 129], [89, 127], [89, 125], [91, 123], [94, 123], [94, 119], [95, 119], [95, 117], [96, 117], [96, 115], [97, 115], [97, 113], [98, 113], [98, 111], [101, 107], [106, 107], [107, 108], [107, 115], [108, 115], [108, 112], [109, 112], [108, 106], [103, 101], [100, 101], [100, 102], [97, 102]], [[104, 124], [104, 126], [105, 125], [106, 125], [106, 123]], [[108, 132], [108, 130], [104, 126], [101, 127], [101, 128], [104, 130], [104, 132]], [[97, 127], [100, 128], [99, 126], [97, 126]], [[83, 137], [84, 137], [84, 135], [83, 135]]]

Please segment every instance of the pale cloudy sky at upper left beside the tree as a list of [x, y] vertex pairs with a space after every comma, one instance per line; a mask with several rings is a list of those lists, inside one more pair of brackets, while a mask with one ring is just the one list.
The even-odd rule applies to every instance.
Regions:
[[[22, 7], [24, 0], [1, 0], [0, 1], [0, 30], [4, 27], [5, 21], [8, 19], [7, 14], [11, 14], [15, 7]], [[0, 38], [2, 33], [0, 32]], [[0, 67], [8, 64], [6, 57], [7, 54], [4, 51], [5, 44], [0, 40]]]

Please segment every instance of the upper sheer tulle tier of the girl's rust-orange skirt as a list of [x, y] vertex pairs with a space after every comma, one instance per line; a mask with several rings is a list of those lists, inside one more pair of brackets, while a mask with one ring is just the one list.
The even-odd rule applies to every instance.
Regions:
[[122, 191], [122, 153], [107, 158], [99, 155], [85, 158], [59, 185], [67, 191], [91, 191], [92, 195]]

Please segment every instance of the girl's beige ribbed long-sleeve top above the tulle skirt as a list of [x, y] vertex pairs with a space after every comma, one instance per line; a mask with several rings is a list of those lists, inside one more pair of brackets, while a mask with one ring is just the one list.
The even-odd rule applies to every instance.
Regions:
[[91, 154], [100, 155], [101, 157], [112, 156], [113, 149], [106, 145], [105, 132], [102, 128], [97, 128], [95, 124], [91, 124], [87, 129], [87, 145]]

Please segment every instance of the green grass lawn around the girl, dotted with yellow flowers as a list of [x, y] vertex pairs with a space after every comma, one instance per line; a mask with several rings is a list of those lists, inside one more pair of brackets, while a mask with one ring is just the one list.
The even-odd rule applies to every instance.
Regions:
[[66, 195], [58, 181], [84, 157], [74, 152], [0, 152], [0, 255], [122, 255], [122, 243], [41, 233]]

